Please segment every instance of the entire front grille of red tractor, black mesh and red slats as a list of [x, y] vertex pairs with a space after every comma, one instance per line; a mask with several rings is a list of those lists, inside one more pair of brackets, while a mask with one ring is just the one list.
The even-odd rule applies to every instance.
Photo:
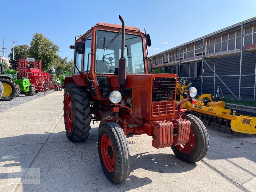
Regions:
[[174, 114], [176, 79], [154, 78], [152, 116]]

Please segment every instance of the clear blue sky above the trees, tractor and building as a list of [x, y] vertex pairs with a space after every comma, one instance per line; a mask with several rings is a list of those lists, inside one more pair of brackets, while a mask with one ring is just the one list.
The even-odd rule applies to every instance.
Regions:
[[[186, 43], [256, 16], [256, 1], [150, 1], [150, 0], [2, 0], [2, 37], [8, 57], [12, 42], [30, 44], [33, 34], [43, 33], [59, 45], [58, 54], [73, 59], [75, 35], [83, 35], [98, 22], [146, 28], [152, 45], [148, 56]], [[0, 53], [2, 55], [2, 53]]]

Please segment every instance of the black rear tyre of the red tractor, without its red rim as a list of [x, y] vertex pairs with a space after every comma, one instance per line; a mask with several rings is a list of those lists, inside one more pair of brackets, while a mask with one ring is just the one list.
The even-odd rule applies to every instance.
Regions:
[[[73, 110], [73, 123], [72, 130], [69, 132], [67, 128], [66, 119], [66, 108], [65, 108], [65, 97], [69, 94], [72, 102]], [[91, 129], [91, 110], [90, 110], [90, 101], [89, 94], [86, 90], [77, 86], [74, 82], [67, 84], [64, 92], [63, 100], [63, 110], [64, 110], [64, 122], [65, 130], [68, 139], [72, 142], [84, 141], [88, 138]]]

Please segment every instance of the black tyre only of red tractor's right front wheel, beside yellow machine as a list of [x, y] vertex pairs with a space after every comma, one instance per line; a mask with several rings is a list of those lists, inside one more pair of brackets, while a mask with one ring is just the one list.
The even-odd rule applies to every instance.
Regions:
[[183, 119], [191, 122], [191, 129], [195, 136], [195, 147], [190, 153], [182, 153], [178, 148], [179, 146], [171, 146], [173, 153], [181, 160], [188, 163], [195, 163], [204, 158], [209, 148], [209, 134], [203, 122], [196, 116], [191, 114], [184, 114]]

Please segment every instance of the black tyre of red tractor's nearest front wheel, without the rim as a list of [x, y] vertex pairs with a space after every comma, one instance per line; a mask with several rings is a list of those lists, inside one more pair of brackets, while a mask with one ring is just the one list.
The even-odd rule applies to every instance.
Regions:
[[[103, 160], [104, 155], [102, 156], [102, 153], [106, 153], [106, 151], [101, 151], [101, 147], [104, 145], [104, 143], [101, 143], [101, 138], [104, 135], [108, 136], [113, 146], [115, 168], [112, 172], [108, 171], [106, 168]], [[117, 184], [128, 178], [131, 169], [131, 155], [126, 136], [119, 124], [106, 122], [100, 125], [98, 132], [98, 153], [102, 170], [111, 182]]]

